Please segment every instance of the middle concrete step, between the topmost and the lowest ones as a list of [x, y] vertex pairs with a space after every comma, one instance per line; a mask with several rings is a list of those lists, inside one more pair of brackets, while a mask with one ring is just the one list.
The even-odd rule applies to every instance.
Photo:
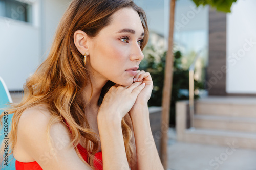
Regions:
[[195, 115], [195, 128], [256, 133], [256, 118]]

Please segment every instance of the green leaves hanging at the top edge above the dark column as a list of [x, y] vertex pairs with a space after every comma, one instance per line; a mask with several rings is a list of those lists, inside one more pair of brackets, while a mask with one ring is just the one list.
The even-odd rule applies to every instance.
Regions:
[[233, 2], [237, 2], [237, 0], [193, 0], [194, 3], [198, 6], [200, 5], [210, 5], [213, 8], [216, 8], [217, 11], [221, 12], [231, 12], [230, 8]]

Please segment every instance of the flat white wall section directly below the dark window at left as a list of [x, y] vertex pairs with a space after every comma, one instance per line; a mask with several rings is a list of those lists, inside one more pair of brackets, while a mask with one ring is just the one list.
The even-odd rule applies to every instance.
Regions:
[[39, 63], [39, 29], [24, 22], [0, 18], [0, 76], [10, 91], [22, 90]]

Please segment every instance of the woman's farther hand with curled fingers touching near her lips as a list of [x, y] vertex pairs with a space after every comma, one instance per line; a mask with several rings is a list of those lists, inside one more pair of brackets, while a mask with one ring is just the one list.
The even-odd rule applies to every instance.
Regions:
[[153, 90], [153, 81], [149, 72], [139, 71], [134, 77], [134, 82], [145, 83], [145, 88], [137, 96], [135, 105], [146, 105], [148, 100], [150, 100], [151, 92]]

